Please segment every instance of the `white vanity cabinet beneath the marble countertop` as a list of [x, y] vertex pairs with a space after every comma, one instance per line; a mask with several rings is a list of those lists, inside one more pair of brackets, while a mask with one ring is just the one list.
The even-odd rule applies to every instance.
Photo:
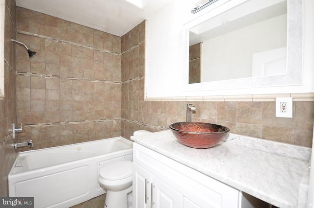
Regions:
[[138, 143], [133, 208], [238, 208], [241, 192]]

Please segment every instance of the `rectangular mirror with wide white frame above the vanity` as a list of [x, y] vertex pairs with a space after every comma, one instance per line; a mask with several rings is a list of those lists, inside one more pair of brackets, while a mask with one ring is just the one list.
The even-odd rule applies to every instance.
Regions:
[[[204, 10], [210, 11], [210, 6]], [[189, 57], [184, 94], [284, 93], [280, 88], [291, 86], [299, 86], [301, 92], [302, 1], [227, 1], [220, 7], [184, 25], [186, 47], [200, 45], [199, 83], [190, 81], [190, 75], [197, 74], [195, 64], [189, 72], [191, 55], [184, 55]]]

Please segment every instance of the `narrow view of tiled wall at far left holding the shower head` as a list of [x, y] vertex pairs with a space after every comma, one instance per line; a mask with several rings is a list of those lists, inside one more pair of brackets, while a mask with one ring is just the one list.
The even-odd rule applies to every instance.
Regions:
[[[8, 196], [7, 175], [16, 158], [12, 126], [16, 123], [15, 96], [15, 0], [1, 1], [5, 7], [4, 24], [4, 99], [0, 99], [0, 196]], [[3, 17], [3, 16], [2, 16]], [[1, 66], [3, 67], [3, 66]]]

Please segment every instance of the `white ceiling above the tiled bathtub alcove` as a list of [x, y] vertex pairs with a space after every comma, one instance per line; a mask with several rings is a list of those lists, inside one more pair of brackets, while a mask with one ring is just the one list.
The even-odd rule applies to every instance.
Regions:
[[171, 0], [16, 0], [17, 6], [98, 29], [119, 37]]

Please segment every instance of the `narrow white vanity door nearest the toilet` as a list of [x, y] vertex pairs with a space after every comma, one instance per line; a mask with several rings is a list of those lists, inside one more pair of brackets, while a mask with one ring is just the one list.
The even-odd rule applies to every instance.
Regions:
[[151, 208], [152, 174], [133, 162], [133, 208]]

